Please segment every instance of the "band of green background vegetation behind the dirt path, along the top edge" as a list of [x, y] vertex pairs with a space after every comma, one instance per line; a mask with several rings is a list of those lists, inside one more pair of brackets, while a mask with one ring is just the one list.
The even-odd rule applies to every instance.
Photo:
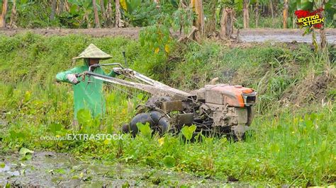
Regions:
[[[13, 12], [13, 0], [8, 1], [8, 13], [6, 23], [15, 28], [111, 28], [116, 26], [119, 18], [116, 14], [116, 8], [119, 7], [120, 19], [124, 21], [123, 27], [145, 27], [155, 23], [155, 20], [162, 16], [172, 16], [173, 19], [179, 20], [186, 16], [186, 12], [191, 1], [170, 0], [158, 1], [159, 4], [151, 0], [132, 1], [121, 0], [118, 4], [116, 1], [96, 0], [96, 11], [99, 24], [96, 25], [94, 18], [94, 5], [92, 0], [16, 0]], [[4, 0], [0, 0], [0, 5]], [[247, 1], [247, 7], [250, 11], [251, 28], [282, 28], [282, 18], [285, 4], [288, 5], [288, 23], [289, 28], [297, 27], [296, 16], [294, 12], [299, 9], [312, 10], [320, 8], [323, 1], [287, 1], [284, 0], [252, 0]], [[55, 6], [52, 6], [55, 4]], [[220, 18], [223, 8], [234, 8], [237, 21], [236, 28], [242, 28], [243, 4], [244, 0], [219, 0], [219, 1], [202, 1], [206, 25], [211, 24], [215, 19], [215, 25], [220, 27]], [[159, 8], [157, 8], [159, 6]], [[0, 12], [2, 7], [0, 6]], [[174, 11], [181, 11], [175, 13]], [[215, 16], [213, 16], [215, 13]], [[255, 17], [256, 13], [259, 15]], [[325, 1], [325, 26], [335, 28], [335, 1]], [[256, 20], [259, 24], [256, 25]], [[189, 21], [193, 19], [189, 16]], [[294, 20], [294, 21], [293, 21]], [[163, 23], [163, 22], [162, 22]], [[182, 25], [184, 25], [182, 23]], [[118, 26], [119, 27], [119, 26]], [[211, 34], [211, 33], [210, 33]]]

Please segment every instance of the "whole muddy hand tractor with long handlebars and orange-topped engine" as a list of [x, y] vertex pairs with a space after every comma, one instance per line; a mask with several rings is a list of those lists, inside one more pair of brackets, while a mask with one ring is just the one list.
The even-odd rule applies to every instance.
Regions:
[[[118, 66], [113, 68], [119, 75], [132, 81], [95, 74], [97, 66]], [[138, 133], [137, 123], [149, 123], [153, 131], [164, 134], [178, 133], [184, 125], [196, 125], [196, 133], [230, 134], [242, 138], [253, 119], [253, 106], [257, 92], [242, 86], [230, 86], [215, 83], [198, 90], [185, 92], [159, 81], [152, 80], [132, 69], [125, 69], [121, 64], [94, 64], [79, 76], [89, 76], [108, 83], [143, 90], [152, 95], [137, 109], [137, 114], [129, 124], [123, 126], [124, 132]]]

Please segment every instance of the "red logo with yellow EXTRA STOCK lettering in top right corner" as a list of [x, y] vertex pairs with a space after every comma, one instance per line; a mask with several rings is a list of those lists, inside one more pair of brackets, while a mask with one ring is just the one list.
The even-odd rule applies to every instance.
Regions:
[[303, 27], [311, 27], [320, 29], [325, 22], [325, 18], [322, 16], [323, 8], [318, 8], [316, 11], [309, 12], [298, 10], [295, 11], [295, 15], [298, 17], [297, 24]]

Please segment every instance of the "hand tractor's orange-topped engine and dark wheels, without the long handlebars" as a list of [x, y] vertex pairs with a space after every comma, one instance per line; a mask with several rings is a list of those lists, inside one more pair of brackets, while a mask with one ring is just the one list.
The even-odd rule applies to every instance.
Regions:
[[[191, 91], [191, 97], [176, 100], [168, 96], [152, 97], [138, 109], [125, 132], [138, 133], [136, 124], [146, 122], [163, 134], [177, 133], [184, 125], [195, 124], [196, 133], [234, 134], [238, 138], [252, 122], [256, 92], [242, 86], [206, 85]], [[129, 127], [129, 128], [128, 128]]]

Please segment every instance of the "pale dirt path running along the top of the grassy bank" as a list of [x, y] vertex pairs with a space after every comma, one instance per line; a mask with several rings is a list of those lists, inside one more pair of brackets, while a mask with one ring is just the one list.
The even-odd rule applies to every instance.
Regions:
[[[125, 36], [131, 38], [138, 38], [141, 28], [100, 28], [100, 29], [6, 29], [0, 30], [0, 34], [13, 36], [17, 33], [33, 32], [40, 35], [69, 35], [69, 34], [84, 34], [94, 37], [115, 37]], [[233, 37], [235, 37], [237, 30], [235, 30]], [[325, 30], [327, 41], [335, 45], [336, 29]], [[311, 43], [312, 37], [310, 35], [302, 36], [303, 30], [300, 29], [242, 29], [240, 30], [240, 40], [242, 42], [308, 42]], [[176, 35], [178, 35], [176, 33]], [[320, 35], [317, 35], [318, 42]]]

